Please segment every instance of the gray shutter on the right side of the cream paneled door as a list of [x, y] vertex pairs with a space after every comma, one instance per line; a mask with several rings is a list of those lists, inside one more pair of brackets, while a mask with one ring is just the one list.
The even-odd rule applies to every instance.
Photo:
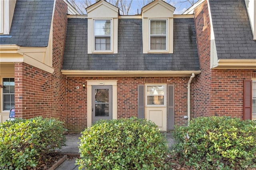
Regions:
[[174, 85], [168, 85], [168, 129], [174, 130]]

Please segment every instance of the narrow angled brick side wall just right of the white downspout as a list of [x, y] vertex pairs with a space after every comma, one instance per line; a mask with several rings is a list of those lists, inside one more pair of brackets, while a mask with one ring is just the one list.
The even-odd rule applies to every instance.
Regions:
[[195, 27], [198, 55], [202, 73], [196, 76], [194, 110], [191, 117], [211, 116], [211, 77], [210, 70], [210, 18], [207, 1], [202, 2], [195, 11]]

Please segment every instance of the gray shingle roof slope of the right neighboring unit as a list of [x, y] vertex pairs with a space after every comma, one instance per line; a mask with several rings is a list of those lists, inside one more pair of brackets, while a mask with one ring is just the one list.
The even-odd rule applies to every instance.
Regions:
[[256, 42], [244, 0], [209, 2], [218, 59], [256, 59]]

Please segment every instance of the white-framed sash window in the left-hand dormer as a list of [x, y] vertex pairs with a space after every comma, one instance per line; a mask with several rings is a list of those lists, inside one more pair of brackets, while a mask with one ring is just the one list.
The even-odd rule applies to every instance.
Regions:
[[94, 20], [94, 51], [111, 51], [111, 20]]

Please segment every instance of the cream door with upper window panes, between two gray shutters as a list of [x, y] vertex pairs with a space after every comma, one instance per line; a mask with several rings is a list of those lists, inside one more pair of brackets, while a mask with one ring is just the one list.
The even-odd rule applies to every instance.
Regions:
[[166, 85], [146, 85], [146, 119], [153, 121], [160, 130], [167, 129]]

